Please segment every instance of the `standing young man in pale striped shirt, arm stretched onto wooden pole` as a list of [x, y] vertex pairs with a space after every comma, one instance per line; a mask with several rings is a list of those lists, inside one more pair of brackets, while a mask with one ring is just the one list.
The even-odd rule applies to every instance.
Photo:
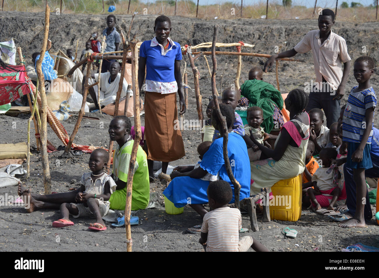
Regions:
[[268, 67], [271, 70], [277, 58], [292, 57], [297, 53], [312, 50], [316, 82], [312, 80], [305, 82], [311, 85], [308, 88], [310, 93], [306, 111], [313, 108], [323, 109], [327, 128], [338, 120], [340, 100], [344, 95], [351, 60], [345, 39], [331, 30], [335, 23], [334, 18], [335, 14], [332, 10], [323, 9], [318, 17], [319, 30], [309, 31], [294, 48], [271, 56], [265, 64], [265, 70]]

